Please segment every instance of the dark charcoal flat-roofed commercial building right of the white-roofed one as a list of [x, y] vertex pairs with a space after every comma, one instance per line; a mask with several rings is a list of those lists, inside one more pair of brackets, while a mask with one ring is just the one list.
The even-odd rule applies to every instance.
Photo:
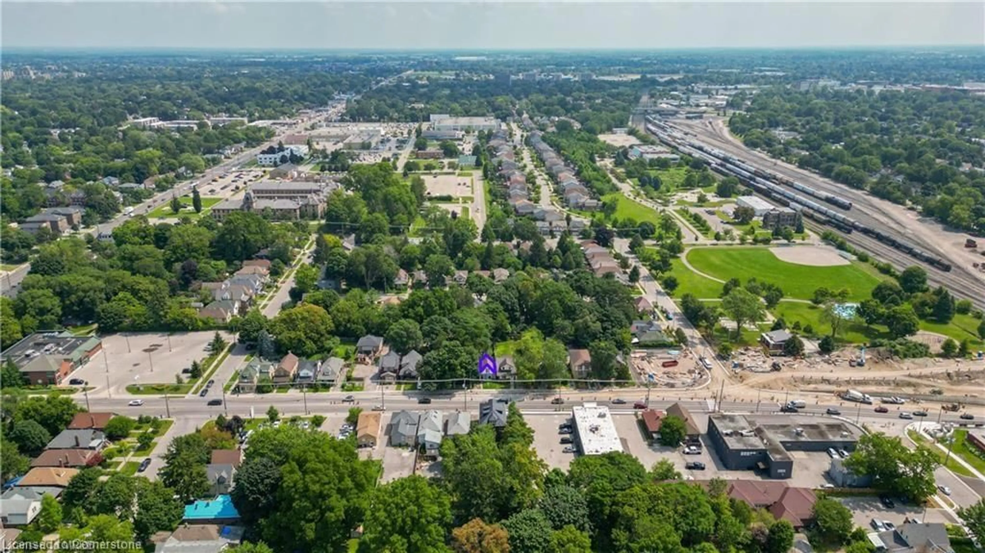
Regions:
[[855, 449], [859, 431], [837, 420], [790, 415], [708, 417], [708, 439], [730, 470], [763, 470], [770, 478], [790, 478], [788, 451]]

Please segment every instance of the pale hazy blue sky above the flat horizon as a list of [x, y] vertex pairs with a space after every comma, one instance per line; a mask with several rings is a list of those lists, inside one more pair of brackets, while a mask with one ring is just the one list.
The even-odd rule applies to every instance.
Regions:
[[985, 44], [985, 2], [0, 2], [4, 47], [569, 49]]

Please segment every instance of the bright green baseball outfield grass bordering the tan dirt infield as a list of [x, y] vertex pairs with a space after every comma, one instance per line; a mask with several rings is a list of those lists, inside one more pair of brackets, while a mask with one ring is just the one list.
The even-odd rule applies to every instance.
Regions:
[[[851, 265], [815, 267], [781, 261], [766, 247], [699, 247], [686, 252], [688, 261], [698, 271], [723, 280], [736, 277], [773, 282], [787, 298], [809, 300], [821, 286], [847, 288], [849, 300], [869, 297], [879, 279], [868, 271]], [[680, 277], [678, 277], [680, 279]]]

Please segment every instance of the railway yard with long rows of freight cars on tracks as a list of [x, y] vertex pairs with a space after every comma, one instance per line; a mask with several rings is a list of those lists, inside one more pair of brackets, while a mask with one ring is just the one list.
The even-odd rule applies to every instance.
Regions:
[[735, 174], [761, 195], [801, 210], [809, 224], [835, 232], [898, 269], [919, 263], [928, 269], [932, 285], [946, 286], [985, 308], [985, 275], [972, 267], [974, 256], [962, 247], [963, 235], [915, 211], [749, 149], [729, 133], [722, 118], [670, 122], [647, 117], [647, 123], [647, 130], [662, 142], [697, 153], [716, 171]]

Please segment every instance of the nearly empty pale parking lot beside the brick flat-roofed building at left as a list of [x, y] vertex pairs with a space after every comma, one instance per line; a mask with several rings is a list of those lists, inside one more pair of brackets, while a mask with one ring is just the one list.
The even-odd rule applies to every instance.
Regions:
[[[104, 389], [108, 380], [112, 393], [119, 394], [128, 384], [174, 383], [182, 369], [209, 355], [206, 346], [214, 335], [212, 330], [110, 334], [102, 338], [102, 352], [70, 378], [87, 380], [98, 389]], [[234, 339], [229, 334], [225, 338]]]

